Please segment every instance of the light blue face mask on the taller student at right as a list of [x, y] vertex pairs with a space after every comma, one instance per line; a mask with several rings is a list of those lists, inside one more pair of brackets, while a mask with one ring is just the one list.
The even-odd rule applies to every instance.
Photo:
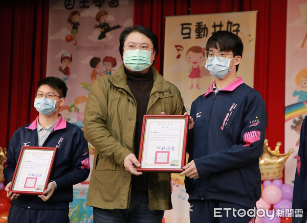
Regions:
[[207, 60], [205, 67], [207, 70], [209, 70], [209, 72], [214, 78], [221, 80], [225, 78], [228, 75], [228, 73], [233, 69], [234, 66], [231, 69], [229, 69], [229, 64], [230, 61], [233, 60], [234, 58], [232, 59], [225, 58], [224, 60], [220, 61], [215, 56], [213, 60], [211, 61]]

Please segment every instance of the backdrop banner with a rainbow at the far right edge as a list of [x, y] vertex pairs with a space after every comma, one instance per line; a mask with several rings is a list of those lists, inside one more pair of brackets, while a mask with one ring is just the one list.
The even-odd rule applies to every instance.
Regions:
[[284, 103], [284, 151], [294, 150], [284, 167], [284, 180], [293, 185], [299, 134], [307, 114], [307, 0], [288, 0]]

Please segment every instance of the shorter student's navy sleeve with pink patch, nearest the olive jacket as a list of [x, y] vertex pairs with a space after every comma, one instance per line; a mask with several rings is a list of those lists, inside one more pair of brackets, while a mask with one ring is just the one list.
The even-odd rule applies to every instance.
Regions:
[[56, 182], [57, 189], [71, 187], [72, 185], [81, 183], [89, 177], [89, 145], [83, 136], [83, 131], [75, 128], [72, 136], [72, 170], [62, 175], [58, 179], [51, 179]]

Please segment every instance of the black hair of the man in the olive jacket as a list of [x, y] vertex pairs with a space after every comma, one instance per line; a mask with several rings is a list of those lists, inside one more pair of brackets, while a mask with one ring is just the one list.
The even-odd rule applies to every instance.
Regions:
[[[156, 58], [158, 53], [159, 53], [158, 37], [150, 29], [148, 29], [144, 26], [141, 26], [141, 25], [136, 25], [134, 27], [128, 27], [128, 28], [124, 29], [123, 32], [120, 34], [120, 37], [119, 37], [119, 53], [120, 53], [121, 58], [123, 58], [124, 43], [127, 39], [127, 36], [130, 33], [133, 33], [133, 32], [142, 33], [151, 40], [151, 42], [153, 44], [153, 49], [156, 51], [156, 55], [155, 55], [155, 58]], [[153, 61], [152, 64], [154, 64], [154, 63], [155, 63], [155, 61]]]

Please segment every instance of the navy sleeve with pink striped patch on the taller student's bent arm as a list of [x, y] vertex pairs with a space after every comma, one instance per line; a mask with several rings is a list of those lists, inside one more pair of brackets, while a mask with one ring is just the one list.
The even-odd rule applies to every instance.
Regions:
[[[225, 150], [194, 159], [199, 175], [240, 168], [255, 162], [264, 152], [264, 140], [267, 126], [267, 112], [264, 100], [259, 92], [247, 95], [243, 126], [239, 139]], [[257, 120], [256, 122], [254, 122]], [[236, 125], [235, 123], [233, 125]], [[214, 131], [214, 130], [212, 130]], [[231, 131], [230, 131], [231, 134]], [[228, 137], [232, 137], [229, 135]], [[227, 139], [228, 140], [228, 139]]]

